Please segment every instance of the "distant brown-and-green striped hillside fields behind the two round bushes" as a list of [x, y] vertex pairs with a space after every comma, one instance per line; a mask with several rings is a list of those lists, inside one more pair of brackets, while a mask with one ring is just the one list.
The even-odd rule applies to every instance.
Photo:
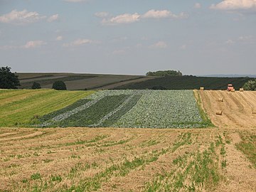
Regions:
[[41, 87], [50, 89], [53, 82], [62, 80], [68, 90], [95, 90], [110, 89], [127, 83], [141, 82], [154, 79], [142, 75], [103, 75], [103, 74], [78, 74], [78, 73], [17, 73], [23, 89], [31, 88], [33, 82], [38, 82]]

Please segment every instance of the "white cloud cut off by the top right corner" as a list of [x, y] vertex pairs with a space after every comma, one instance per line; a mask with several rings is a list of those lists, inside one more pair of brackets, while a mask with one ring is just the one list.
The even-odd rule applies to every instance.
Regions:
[[212, 4], [210, 9], [237, 10], [256, 8], [256, 0], [224, 0], [219, 4]]

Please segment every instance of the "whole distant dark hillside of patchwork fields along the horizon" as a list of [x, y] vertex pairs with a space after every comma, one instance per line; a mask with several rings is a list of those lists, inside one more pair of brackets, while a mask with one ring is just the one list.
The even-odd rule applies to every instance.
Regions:
[[39, 82], [43, 88], [51, 88], [55, 80], [63, 80], [68, 90], [144, 90], [153, 87], [165, 87], [167, 90], [193, 90], [205, 87], [206, 90], [225, 90], [233, 83], [238, 90], [245, 82], [254, 78], [208, 78], [196, 76], [150, 77], [143, 75], [103, 75], [76, 73], [17, 73], [20, 88], [31, 88], [33, 82]]

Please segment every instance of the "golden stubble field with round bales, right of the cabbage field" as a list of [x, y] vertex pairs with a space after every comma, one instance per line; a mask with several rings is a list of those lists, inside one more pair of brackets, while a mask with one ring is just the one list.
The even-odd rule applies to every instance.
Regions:
[[[256, 128], [256, 92], [200, 91], [203, 107], [220, 128]], [[218, 99], [223, 98], [223, 102]], [[216, 112], [222, 110], [223, 114]]]

